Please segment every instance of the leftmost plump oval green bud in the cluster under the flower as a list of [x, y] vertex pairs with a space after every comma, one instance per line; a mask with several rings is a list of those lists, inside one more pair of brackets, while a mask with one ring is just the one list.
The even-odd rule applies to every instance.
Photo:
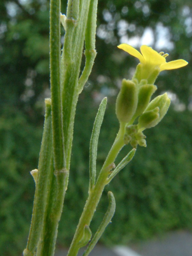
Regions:
[[128, 123], [135, 113], [138, 93], [135, 83], [123, 79], [121, 90], [116, 100], [116, 116], [119, 122]]

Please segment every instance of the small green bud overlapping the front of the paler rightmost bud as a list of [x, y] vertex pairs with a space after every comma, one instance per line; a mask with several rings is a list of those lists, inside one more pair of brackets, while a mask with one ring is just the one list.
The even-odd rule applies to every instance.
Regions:
[[138, 128], [151, 128], [156, 125], [159, 119], [159, 108], [156, 107], [152, 110], [145, 111], [138, 120]]

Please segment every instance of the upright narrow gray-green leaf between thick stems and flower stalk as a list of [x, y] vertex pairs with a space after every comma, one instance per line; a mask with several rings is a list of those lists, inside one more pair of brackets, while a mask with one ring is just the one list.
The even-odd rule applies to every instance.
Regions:
[[98, 110], [97, 116], [95, 118], [92, 135], [91, 135], [90, 156], [89, 156], [89, 175], [90, 175], [89, 191], [92, 190], [92, 188], [95, 184], [97, 145], [98, 145], [99, 133], [100, 133], [101, 124], [103, 122], [103, 116], [105, 113], [106, 104], [107, 104], [107, 98], [104, 98], [101, 101], [101, 104], [99, 106], [99, 110]]

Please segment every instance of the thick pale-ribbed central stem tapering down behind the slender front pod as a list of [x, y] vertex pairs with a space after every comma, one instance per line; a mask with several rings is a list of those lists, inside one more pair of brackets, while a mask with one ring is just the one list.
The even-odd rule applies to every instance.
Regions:
[[77, 23], [72, 23], [70, 20], [68, 21], [67, 25], [70, 25], [70, 27], [68, 27], [66, 30], [61, 58], [62, 70], [64, 70], [64, 72], [62, 72], [61, 83], [63, 102], [63, 130], [65, 137], [67, 169], [69, 169], [70, 165], [73, 124], [78, 99], [77, 86], [84, 46], [85, 29], [89, 13], [89, 4], [90, 0], [80, 1]]

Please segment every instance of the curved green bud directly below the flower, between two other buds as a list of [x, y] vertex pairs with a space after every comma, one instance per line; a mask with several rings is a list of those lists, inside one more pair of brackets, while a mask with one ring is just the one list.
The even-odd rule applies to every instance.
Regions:
[[143, 111], [147, 108], [151, 100], [151, 96], [156, 91], [156, 89], [157, 87], [154, 84], [144, 84], [139, 88], [138, 104], [133, 117], [134, 119], [137, 116], [140, 116], [143, 113]]

